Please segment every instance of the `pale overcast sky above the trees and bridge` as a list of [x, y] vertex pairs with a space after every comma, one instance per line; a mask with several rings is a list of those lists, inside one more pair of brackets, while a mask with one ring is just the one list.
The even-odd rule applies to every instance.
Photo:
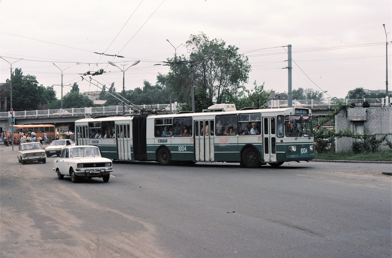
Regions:
[[[101, 68], [107, 73], [93, 78], [108, 87], [114, 82], [116, 91], [121, 91], [123, 73], [107, 61], [129, 66], [141, 60], [126, 71], [126, 90], [142, 87], [143, 80], [155, 84], [158, 72], [169, 69], [154, 64], [174, 56], [166, 40], [177, 47], [191, 34], [203, 32], [210, 39], [236, 45], [248, 56], [252, 65], [248, 88], [256, 80], [265, 82], [265, 89], [287, 91], [287, 69], [282, 69], [287, 67], [287, 47], [283, 46], [291, 44], [293, 89], [320, 90], [317, 84], [341, 98], [356, 87], [385, 91], [382, 24], [392, 31], [391, 17], [391, 0], [1, 0], [0, 56], [11, 63], [24, 58], [13, 69], [36, 76], [44, 86], [55, 85], [59, 98], [61, 72], [52, 63], [61, 69], [70, 67], [64, 71], [64, 95], [74, 82], [81, 92], [99, 90], [82, 82], [80, 73]], [[388, 50], [391, 67], [390, 45]], [[188, 55], [184, 45], [177, 55]], [[10, 66], [2, 59], [0, 70], [0, 82], [5, 82]], [[392, 69], [388, 70], [392, 78]]]

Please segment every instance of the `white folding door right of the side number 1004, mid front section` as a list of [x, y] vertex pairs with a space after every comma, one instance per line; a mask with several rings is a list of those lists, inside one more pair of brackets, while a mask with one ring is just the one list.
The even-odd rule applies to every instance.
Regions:
[[[211, 127], [210, 127], [211, 125]], [[196, 120], [195, 161], [214, 161], [214, 120]]]

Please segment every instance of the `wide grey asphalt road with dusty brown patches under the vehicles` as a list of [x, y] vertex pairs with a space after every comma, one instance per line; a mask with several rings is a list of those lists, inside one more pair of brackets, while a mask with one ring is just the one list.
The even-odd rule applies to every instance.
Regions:
[[58, 180], [0, 145], [1, 257], [391, 257], [391, 164], [160, 166]]

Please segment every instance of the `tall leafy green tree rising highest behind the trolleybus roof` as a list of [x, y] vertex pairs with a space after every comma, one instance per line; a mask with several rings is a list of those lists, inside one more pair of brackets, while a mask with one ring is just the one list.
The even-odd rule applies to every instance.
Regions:
[[[238, 47], [227, 45], [221, 39], [210, 40], [205, 34], [191, 35], [186, 42], [189, 59], [194, 65], [195, 111], [200, 112], [212, 104], [221, 104], [242, 89], [248, 81], [250, 65]], [[168, 83], [177, 101], [191, 103], [189, 65], [181, 63], [184, 56], [171, 64]], [[205, 98], [201, 99], [201, 98]]]

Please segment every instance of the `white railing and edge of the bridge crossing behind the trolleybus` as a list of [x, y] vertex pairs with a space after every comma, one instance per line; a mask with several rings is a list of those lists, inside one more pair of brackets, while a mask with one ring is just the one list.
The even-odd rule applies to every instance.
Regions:
[[[293, 100], [293, 107], [307, 107], [312, 109], [312, 113], [318, 113], [318, 115], [327, 114], [328, 110], [332, 110], [338, 105], [338, 103], [354, 103], [355, 105], [362, 105], [363, 102], [368, 102], [370, 106], [388, 106], [392, 105], [392, 98], [370, 98], [370, 99], [329, 99], [329, 100]], [[172, 104], [172, 110], [174, 113], [180, 110], [180, 107], [185, 104]], [[287, 100], [269, 100], [267, 102], [267, 108], [285, 108], [287, 107]], [[140, 105], [142, 109], [149, 110], [160, 110], [161, 112], [170, 111], [169, 104], [157, 104], [157, 105]], [[71, 109], [46, 109], [46, 110], [32, 110], [32, 111], [14, 111], [13, 116], [16, 120], [41, 120], [41, 122], [48, 121], [47, 118], [53, 118], [59, 121], [76, 121], [81, 117], [94, 117], [94, 116], [118, 116], [122, 115], [122, 105], [109, 106], [109, 107], [83, 107], [83, 108], [71, 108]], [[125, 106], [125, 114], [132, 114], [133, 110]], [[11, 114], [9, 112], [0, 113], [0, 120], [9, 120]], [[58, 118], [58, 119], [56, 119]], [[68, 118], [68, 119], [66, 119]], [[36, 121], [34, 121], [36, 123]], [[19, 123], [21, 124], [21, 123]]]

